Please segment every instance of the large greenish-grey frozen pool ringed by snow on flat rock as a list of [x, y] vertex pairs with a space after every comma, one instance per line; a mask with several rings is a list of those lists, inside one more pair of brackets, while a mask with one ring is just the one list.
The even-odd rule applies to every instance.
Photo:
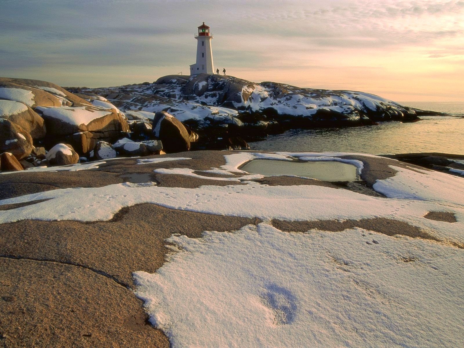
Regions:
[[359, 180], [357, 168], [353, 164], [337, 161], [273, 161], [253, 160], [241, 170], [262, 175], [296, 175], [323, 181]]

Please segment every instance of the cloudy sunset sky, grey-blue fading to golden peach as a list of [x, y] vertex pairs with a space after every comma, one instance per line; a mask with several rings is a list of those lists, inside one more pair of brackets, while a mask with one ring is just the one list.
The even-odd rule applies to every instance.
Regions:
[[107, 87], [214, 69], [253, 82], [464, 101], [464, 0], [1, 0], [0, 76]]

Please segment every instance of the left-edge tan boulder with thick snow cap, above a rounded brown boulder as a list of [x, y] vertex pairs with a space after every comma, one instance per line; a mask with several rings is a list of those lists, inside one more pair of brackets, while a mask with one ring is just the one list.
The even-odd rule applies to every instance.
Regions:
[[32, 139], [45, 137], [43, 118], [24, 103], [0, 99], [0, 118], [16, 123], [26, 130], [32, 136]]

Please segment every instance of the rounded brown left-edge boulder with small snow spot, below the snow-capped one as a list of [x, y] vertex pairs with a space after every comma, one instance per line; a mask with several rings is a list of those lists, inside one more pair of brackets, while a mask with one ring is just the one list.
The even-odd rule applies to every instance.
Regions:
[[18, 160], [32, 151], [32, 137], [16, 123], [0, 118], [0, 152], [12, 153]]

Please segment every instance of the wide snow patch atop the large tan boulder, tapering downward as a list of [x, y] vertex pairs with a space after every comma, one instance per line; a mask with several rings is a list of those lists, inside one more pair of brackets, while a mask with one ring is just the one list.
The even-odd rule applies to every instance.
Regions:
[[87, 125], [97, 118], [111, 115], [111, 111], [97, 110], [87, 106], [71, 107], [44, 107], [39, 106], [36, 108], [43, 113], [44, 116], [56, 118], [63, 122], [75, 125]]

